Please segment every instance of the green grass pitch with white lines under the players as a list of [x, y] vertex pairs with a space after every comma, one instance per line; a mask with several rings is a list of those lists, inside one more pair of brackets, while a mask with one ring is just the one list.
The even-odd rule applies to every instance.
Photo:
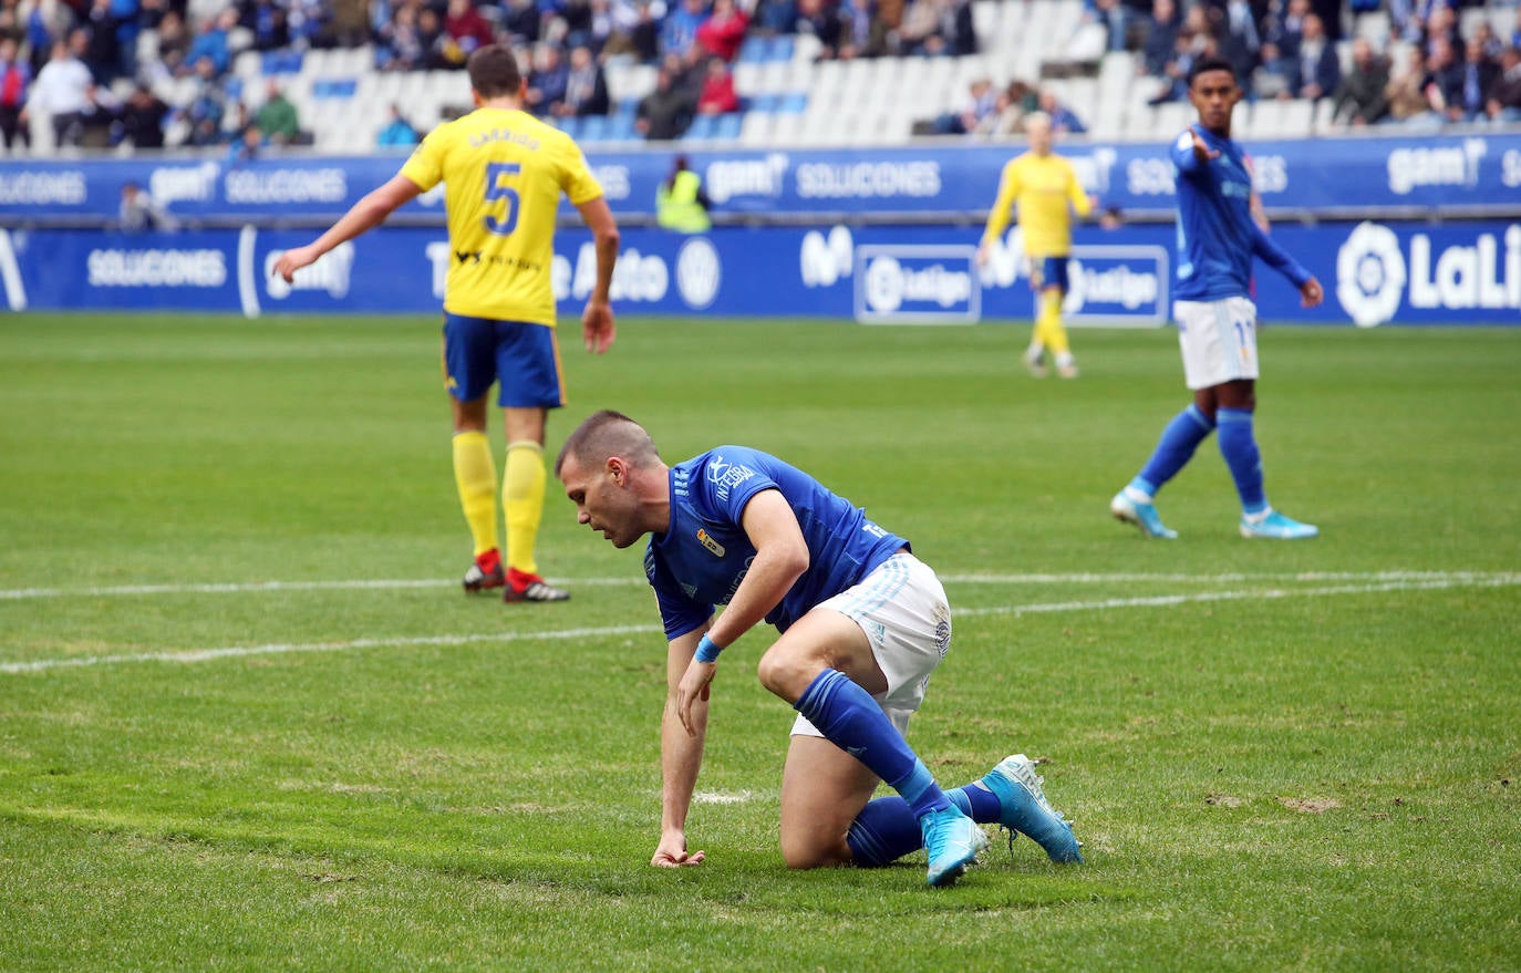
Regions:
[[[1269, 497], [1214, 441], [1145, 541], [1107, 500], [1186, 401], [1171, 331], [567, 321], [572, 404], [668, 461], [774, 452], [910, 537], [955, 640], [910, 739], [1045, 760], [1088, 864], [789, 873], [791, 713], [729, 649], [691, 841], [659, 822], [640, 550], [551, 479], [564, 605], [467, 599], [433, 318], [0, 319], [0, 968], [1521, 968], [1521, 328], [1265, 327]], [[500, 462], [500, 433], [493, 436]]]

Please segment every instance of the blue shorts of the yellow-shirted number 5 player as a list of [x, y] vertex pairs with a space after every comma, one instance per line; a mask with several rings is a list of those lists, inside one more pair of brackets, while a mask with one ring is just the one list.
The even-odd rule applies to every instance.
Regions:
[[500, 382], [497, 404], [558, 409], [560, 345], [546, 324], [491, 321], [444, 313], [444, 388], [459, 401], [475, 401]]

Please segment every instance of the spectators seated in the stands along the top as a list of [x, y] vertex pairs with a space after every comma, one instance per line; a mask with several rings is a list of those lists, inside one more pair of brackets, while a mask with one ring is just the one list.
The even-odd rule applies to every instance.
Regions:
[[[1387, 36], [1348, 38], [1346, 52], [1370, 3], [1389, 5]], [[1156, 102], [1185, 97], [1189, 64], [1220, 55], [1250, 97], [1331, 99], [1352, 126], [1521, 119], [1521, 11], [1509, 36], [1488, 20], [1460, 35], [1459, 14], [1448, 0], [1084, 0], [1107, 49], [1161, 79]], [[520, 52], [526, 108], [546, 119], [613, 111], [611, 58], [659, 65], [636, 129], [668, 140], [698, 116], [742, 111], [732, 64], [748, 36], [779, 33], [814, 35], [821, 59], [980, 47], [972, 0], [0, 0], [0, 135], [21, 151], [46, 117], [56, 146], [158, 149], [173, 132], [237, 161], [310, 141], [277, 82], [260, 97], [233, 78], [242, 50], [371, 46], [376, 71], [417, 71], [462, 68], [499, 41]], [[192, 91], [183, 103], [155, 94], [178, 79], [193, 79], [175, 88]], [[1011, 135], [1036, 108], [1084, 131], [1083, 106], [1039, 79], [980, 81], [920, 131]], [[394, 108], [382, 141], [417, 137]]]

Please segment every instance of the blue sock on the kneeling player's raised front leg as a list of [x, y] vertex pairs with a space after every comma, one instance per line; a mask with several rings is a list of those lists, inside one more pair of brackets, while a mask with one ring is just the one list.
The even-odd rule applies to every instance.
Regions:
[[897, 791], [919, 818], [951, 806], [929, 768], [914, 754], [865, 692], [835, 669], [824, 669], [792, 704], [830, 743], [864, 763]]

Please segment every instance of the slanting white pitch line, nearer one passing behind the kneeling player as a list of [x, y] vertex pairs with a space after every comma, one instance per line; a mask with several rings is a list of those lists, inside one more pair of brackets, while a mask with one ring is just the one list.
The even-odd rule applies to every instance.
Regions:
[[[1377, 575], [1372, 575], [1377, 576]], [[1148, 576], [1144, 576], [1148, 578]], [[1430, 591], [1440, 588], [1497, 588], [1521, 585], [1521, 573], [1495, 575], [1418, 575], [1404, 581], [1380, 581], [1375, 584], [1345, 584], [1316, 588], [1259, 588], [1234, 591], [1196, 591], [1186, 594], [1157, 594], [1144, 597], [1106, 597], [1088, 602], [1048, 602], [1031, 605], [993, 605], [983, 608], [958, 608], [957, 616], [986, 614], [1037, 614], [1049, 611], [1104, 611], [1112, 608], [1156, 608], [1191, 602], [1221, 601], [1269, 601], [1284, 597], [1326, 597], [1335, 594], [1372, 594], [1380, 591]], [[110, 666], [123, 663], [199, 663], [216, 658], [239, 658], [248, 655], [281, 655], [291, 652], [348, 652], [353, 649], [397, 648], [412, 645], [470, 645], [479, 642], [534, 642], [560, 639], [596, 639], [605, 635], [633, 635], [659, 632], [659, 625], [611, 625], [602, 628], [572, 628], [541, 632], [490, 632], [472, 635], [414, 635], [400, 639], [354, 639], [348, 642], [274, 643], [256, 646], [227, 646], [219, 649], [187, 649], [179, 652], [138, 652], [123, 655], [85, 655], [71, 658], [41, 658], [24, 663], [0, 663], [0, 673], [43, 672], [49, 669], [75, 669], [84, 666]]]

